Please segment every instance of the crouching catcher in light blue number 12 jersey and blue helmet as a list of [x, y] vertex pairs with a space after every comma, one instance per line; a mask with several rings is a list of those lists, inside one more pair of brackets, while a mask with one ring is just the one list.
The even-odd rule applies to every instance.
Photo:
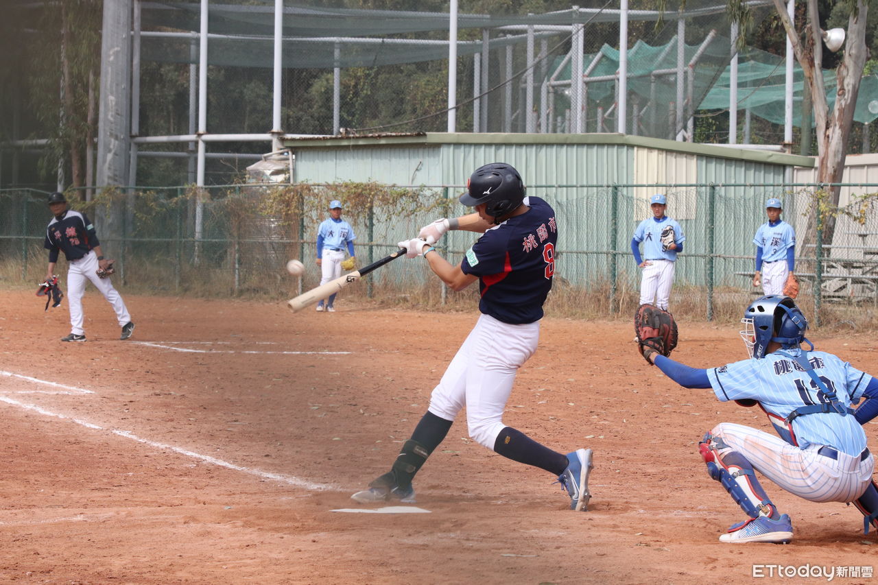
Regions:
[[[680, 386], [712, 388], [720, 401], [759, 405], [780, 436], [721, 423], [702, 438], [699, 451], [710, 477], [749, 516], [719, 539], [788, 543], [793, 538], [789, 516], [768, 498], [754, 470], [810, 502], [854, 502], [866, 516], [865, 530], [869, 523], [878, 527], [874, 457], [861, 426], [875, 414], [878, 380], [815, 351], [805, 337], [808, 321], [788, 297], [760, 297], [746, 308], [742, 322], [751, 358], [734, 364], [699, 370], [647, 350], [648, 359]], [[810, 350], [802, 350], [802, 342]], [[870, 408], [855, 412], [851, 404], [863, 396]]]

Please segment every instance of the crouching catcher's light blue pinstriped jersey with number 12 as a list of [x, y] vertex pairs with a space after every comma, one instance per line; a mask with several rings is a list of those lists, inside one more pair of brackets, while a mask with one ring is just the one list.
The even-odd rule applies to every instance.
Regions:
[[[801, 352], [784, 351], [793, 356]], [[825, 351], [809, 351], [807, 357], [817, 376], [835, 390], [841, 404], [850, 407], [852, 402], [860, 401], [872, 376]], [[710, 386], [720, 401], [749, 398], [759, 401], [770, 415], [785, 419], [796, 408], [825, 402], [824, 393], [818, 390], [808, 372], [801, 372], [797, 366], [793, 360], [771, 353], [762, 359], [745, 359], [707, 372]], [[782, 420], [769, 418], [775, 426], [786, 426]], [[810, 444], [821, 444], [857, 456], [866, 448], [866, 433], [853, 415], [801, 415], [793, 421], [792, 430], [802, 449]]]

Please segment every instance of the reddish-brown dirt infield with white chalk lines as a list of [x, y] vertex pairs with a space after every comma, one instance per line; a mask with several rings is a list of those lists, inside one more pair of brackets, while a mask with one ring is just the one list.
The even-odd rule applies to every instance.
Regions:
[[[386, 471], [474, 311], [125, 298], [131, 340], [90, 290], [89, 341], [61, 343], [66, 300], [44, 313], [33, 291], [0, 290], [0, 582], [803, 581], [754, 579], [754, 565], [878, 579], [860, 512], [767, 481], [793, 544], [717, 541], [743, 513], [698, 440], [723, 421], [769, 424], [673, 385], [637, 355], [628, 321], [547, 317], [505, 417], [558, 451], [594, 449], [589, 512], [567, 509], [547, 473], [473, 443], [461, 418], [415, 480], [430, 513], [354, 514], [333, 510], [357, 508], [349, 495]], [[874, 337], [812, 341], [878, 373]], [[687, 364], [744, 355], [735, 326], [680, 323]]]

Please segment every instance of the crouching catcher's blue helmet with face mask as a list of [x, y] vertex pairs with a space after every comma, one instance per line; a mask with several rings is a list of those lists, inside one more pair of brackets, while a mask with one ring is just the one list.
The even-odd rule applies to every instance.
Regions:
[[744, 312], [744, 330], [741, 339], [751, 358], [766, 357], [769, 342], [780, 343], [782, 348], [794, 348], [804, 341], [814, 350], [814, 344], [805, 337], [808, 320], [789, 297], [769, 294], [750, 303]]

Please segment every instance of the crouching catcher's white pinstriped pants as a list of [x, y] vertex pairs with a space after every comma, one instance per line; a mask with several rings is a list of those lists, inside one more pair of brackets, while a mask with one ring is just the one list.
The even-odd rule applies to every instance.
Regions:
[[786, 441], [743, 424], [720, 423], [710, 433], [723, 439], [728, 451], [738, 451], [754, 469], [790, 494], [810, 502], [853, 502], [872, 481], [874, 456], [866, 459], [838, 451], [838, 459], [820, 455], [823, 445], [800, 449]]

